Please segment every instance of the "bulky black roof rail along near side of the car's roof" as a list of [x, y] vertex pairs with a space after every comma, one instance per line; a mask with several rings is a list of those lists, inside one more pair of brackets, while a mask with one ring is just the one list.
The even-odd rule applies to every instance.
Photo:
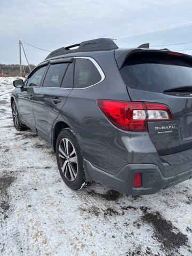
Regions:
[[[71, 49], [73, 47], [79, 46], [76, 49]], [[87, 51], [106, 51], [118, 49], [118, 46], [110, 38], [97, 38], [89, 41], [84, 41], [79, 44], [69, 45], [66, 47], [61, 47], [53, 52], [51, 52], [46, 58], [52, 58], [59, 55], [72, 53], [72, 52], [87, 52]]]

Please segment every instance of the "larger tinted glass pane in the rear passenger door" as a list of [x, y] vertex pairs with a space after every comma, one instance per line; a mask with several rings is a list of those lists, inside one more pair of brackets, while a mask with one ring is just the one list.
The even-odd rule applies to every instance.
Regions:
[[65, 71], [67, 69], [67, 66], [68, 66], [68, 63], [51, 64], [46, 73], [43, 86], [44, 87], [60, 87], [63, 75], [65, 74]]

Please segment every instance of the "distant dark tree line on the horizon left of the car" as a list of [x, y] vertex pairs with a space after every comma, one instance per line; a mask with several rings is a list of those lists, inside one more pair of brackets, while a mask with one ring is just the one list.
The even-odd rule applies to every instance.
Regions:
[[[24, 68], [23, 68], [24, 67]], [[35, 68], [35, 65], [30, 64], [31, 70]], [[7, 76], [19, 76], [19, 64], [1, 64], [0, 63], [0, 74]], [[29, 67], [26, 65], [22, 65], [22, 74], [29, 74]]]

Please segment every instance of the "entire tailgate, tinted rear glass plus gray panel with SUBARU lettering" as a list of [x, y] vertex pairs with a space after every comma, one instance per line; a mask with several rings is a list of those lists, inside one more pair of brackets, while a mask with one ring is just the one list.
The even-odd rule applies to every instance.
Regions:
[[159, 155], [192, 148], [191, 60], [172, 52], [137, 53], [121, 69], [132, 101], [163, 103], [172, 112], [173, 121], [148, 122]]

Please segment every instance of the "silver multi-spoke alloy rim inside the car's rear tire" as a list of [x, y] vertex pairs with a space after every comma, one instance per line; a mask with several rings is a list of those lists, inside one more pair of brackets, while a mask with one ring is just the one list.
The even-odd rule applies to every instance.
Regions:
[[77, 154], [73, 143], [67, 138], [59, 143], [59, 164], [66, 179], [74, 181], [77, 177]]

